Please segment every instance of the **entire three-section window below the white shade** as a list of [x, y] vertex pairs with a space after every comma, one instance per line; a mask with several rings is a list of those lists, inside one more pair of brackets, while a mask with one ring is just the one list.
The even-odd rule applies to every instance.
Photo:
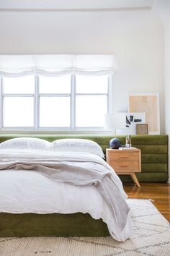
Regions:
[[110, 75], [1, 78], [1, 129], [103, 129]]

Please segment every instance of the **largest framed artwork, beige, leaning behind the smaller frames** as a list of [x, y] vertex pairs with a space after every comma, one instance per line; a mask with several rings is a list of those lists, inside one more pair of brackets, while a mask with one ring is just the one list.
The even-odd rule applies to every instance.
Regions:
[[129, 112], [144, 112], [149, 135], [160, 134], [160, 114], [158, 93], [130, 93]]

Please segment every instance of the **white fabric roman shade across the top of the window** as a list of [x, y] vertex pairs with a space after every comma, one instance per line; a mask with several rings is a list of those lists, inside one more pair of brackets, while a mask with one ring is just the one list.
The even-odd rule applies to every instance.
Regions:
[[115, 70], [115, 58], [106, 54], [0, 55], [0, 74], [110, 74]]

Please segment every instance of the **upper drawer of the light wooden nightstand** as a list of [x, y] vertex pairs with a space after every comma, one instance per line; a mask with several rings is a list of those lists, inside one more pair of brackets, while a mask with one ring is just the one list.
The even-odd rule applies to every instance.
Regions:
[[114, 152], [109, 153], [109, 161], [138, 161], [138, 152]]

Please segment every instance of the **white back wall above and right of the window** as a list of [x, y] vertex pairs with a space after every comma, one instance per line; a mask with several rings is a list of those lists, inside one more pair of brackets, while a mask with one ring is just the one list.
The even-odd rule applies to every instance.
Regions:
[[0, 54], [115, 54], [115, 111], [158, 92], [164, 132], [163, 27], [151, 11], [0, 12]]

